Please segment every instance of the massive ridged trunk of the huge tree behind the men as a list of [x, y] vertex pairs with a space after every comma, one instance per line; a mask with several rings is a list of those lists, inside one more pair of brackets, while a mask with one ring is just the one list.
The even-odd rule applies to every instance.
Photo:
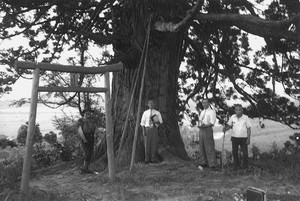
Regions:
[[[128, 41], [121, 41], [114, 45], [115, 55], [127, 54], [128, 58], [123, 60], [124, 70], [115, 72], [112, 84], [112, 117], [114, 125], [114, 150], [117, 165], [122, 167], [129, 165], [132, 154], [132, 144], [135, 131], [135, 122], [138, 111], [139, 87], [141, 86], [142, 71], [137, 75], [143, 44], [146, 38], [147, 27], [150, 16], [164, 18], [166, 20], [180, 21], [178, 16], [183, 16], [187, 10], [184, 0], [131, 0], [128, 3], [128, 15], [119, 19], [121, 26], [115, 29], [120, 35], [128, 34]], [[153, 9], [152, 9], [153, 8]], [[155, 11], [156, 13], [151, 13]], [[126, 17], [128, 17], [126, 19]], [[123, 27], [123, 28], [122, 28]], [[179, 66], [182, 59], [183, 38], [185, 32], [167, 33], [154, 30], [151, 26], [150, 44], [147, 55], [145, 87], [142, 99], [142, 112], [147, 108], [146, 102], [153, 99], [156, 109], [162, 114], [164, 123], [159, 127], [158, 154], [161, 161], [189, 160], [184, 149], [178, 127], [177, 95]], [[124, 30], [128, 30], [124, 32]], [[130, 52], [130, 54], [128, 54]], [[133, 106], [130, 109], [128, 127], [123, 137], [122, 149], [119, 150], [120, 141], [126, 121], [127, 111], [130, 104], [132, 89], [135, 78], [138, 77], [138, 85], [134, 94]], [[104, 141], [105, 143], [105, 141]], [[105, 145], [101, 143], [96, 149], [96, 161], [107, 162]], [[141, 128], [136, 147], [136, 160], [144, 160], [143, 137]], [[101, 169], [101, 168], [100, 168]], [[99, 170], [100, 170], [99, 169]]]

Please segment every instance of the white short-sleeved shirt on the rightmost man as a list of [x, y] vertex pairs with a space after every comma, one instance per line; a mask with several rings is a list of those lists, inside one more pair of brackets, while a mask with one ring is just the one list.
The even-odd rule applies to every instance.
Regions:
[[232, 126], [232, 137], [247, 137], [247, 128], [251, 128], [250, 119], [247, 115], [242, 115], [240, 118], [236, 114], [232, 115], [227, 123]]

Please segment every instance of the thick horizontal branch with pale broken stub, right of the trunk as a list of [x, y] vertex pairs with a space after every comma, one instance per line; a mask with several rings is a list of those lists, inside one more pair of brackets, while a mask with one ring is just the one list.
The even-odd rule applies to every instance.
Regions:
[[[194, 8], [188, 11], [186, 17], [179, 23], [173, 22], [156, 22], [155, 29], [157, 31], [176, 32], [185, 27], [191, 20], [196, 19], [199, 21], [214, 21], [214, 22], [227, 22], [232, 26], [261, 37], [274, 37], [284, 38], [289, 41], [300, 42], [300, 13], [285, 20], [266, 20], [253, 15], [241, 14], [203, 14], [195, 13], [200, 10], [202, 1], [198, 0]], [[247, 5], [249, 9], [249, 5]], [[250, 11], [251, 12], [251, 11]], [[252, 13], [252, 12], [251, 12]], [[296, 31], [289, 30], [291, 25], [296, 26]]]

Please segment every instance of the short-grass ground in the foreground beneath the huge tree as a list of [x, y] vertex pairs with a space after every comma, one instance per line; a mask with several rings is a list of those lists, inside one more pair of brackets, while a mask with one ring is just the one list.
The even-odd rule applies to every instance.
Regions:
[[126, 169], [119, 171], [113, 184], [109, 183], [107, 172], [81, 175], [72, 169], [37, 176], [30, 185], [36, 197], [52, 196], [52, 200], [233, 201], [249, 186], [265, 190], [269, 201], [300, 200], [300, 184], [245, 173], [200, 171], [183, 163], [137, 164], [133, 174]]

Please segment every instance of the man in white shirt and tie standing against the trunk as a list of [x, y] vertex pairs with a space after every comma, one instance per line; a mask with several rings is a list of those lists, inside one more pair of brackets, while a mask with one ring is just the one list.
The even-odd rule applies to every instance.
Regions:
[[154, 109], [154, 101], [148, 101], [149, 109], [143, 113], [141, 126], [145, 145], [145, 164], [157, 163], [158, 126], [163, 123], [161, 114]]

